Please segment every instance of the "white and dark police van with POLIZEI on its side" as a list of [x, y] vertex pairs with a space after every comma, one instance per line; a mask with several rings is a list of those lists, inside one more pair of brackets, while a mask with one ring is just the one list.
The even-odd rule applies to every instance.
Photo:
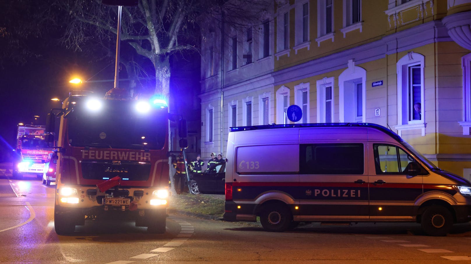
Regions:
[[417, 222], [439, 236], [471, 220], [471, 183], [378, 124], [232, 127], [227, 142], [227, 221]]

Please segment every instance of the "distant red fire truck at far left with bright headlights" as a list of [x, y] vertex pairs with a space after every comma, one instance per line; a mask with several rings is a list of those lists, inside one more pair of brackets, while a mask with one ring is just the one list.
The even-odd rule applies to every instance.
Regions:
[[13, 178], [22, 179], [25, 174], [42, 177], [44, 163], [49, 153], [52, 153], [52, 148], [48, 147], [44, 129], [43, 125], [18, 124]]

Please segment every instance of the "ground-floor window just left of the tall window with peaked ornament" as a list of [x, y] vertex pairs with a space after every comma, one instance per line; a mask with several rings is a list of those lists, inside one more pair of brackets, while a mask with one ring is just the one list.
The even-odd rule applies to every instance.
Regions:
[[333, 82], [333, 77], [317, 81], [317, 123], [333, 122]]

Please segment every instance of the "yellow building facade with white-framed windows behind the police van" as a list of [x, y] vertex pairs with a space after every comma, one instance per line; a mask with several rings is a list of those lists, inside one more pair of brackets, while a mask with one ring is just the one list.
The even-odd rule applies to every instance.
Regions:
[[[471, 0], [276, 0], [266, 19], [269, 38], [263, 27], [254, 38], [259, 71], [229, 70], [226, 59], [219, 90], [202, 76], [203, 137], [208, 105], [221, 109], [214, 122], [223, 125], [212, 129], [227, 140], [229, 127], [247, 125], [247, 102], [251, 125], [292, 123], [285, 111], [296, 104], [298, 123], [381, 124], [439, 168], [470, 179]], [[223, 54], [243, 57], [245, 34], [231, 36], [238, 49]], [[270, 39], [267, 56], [262, 39]]]

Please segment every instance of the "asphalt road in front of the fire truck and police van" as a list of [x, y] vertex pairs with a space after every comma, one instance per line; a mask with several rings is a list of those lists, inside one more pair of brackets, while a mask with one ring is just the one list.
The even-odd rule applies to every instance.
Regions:
[[284, 233], [258, 224], [167, 218], [164, 234], [132, 222], [93, 222], [72, 236], [54, 231], [55, 186], [0, 176], [0, 263], [471, 263], [471, 224], [447, 237], [416, 224], [303, 225]]

